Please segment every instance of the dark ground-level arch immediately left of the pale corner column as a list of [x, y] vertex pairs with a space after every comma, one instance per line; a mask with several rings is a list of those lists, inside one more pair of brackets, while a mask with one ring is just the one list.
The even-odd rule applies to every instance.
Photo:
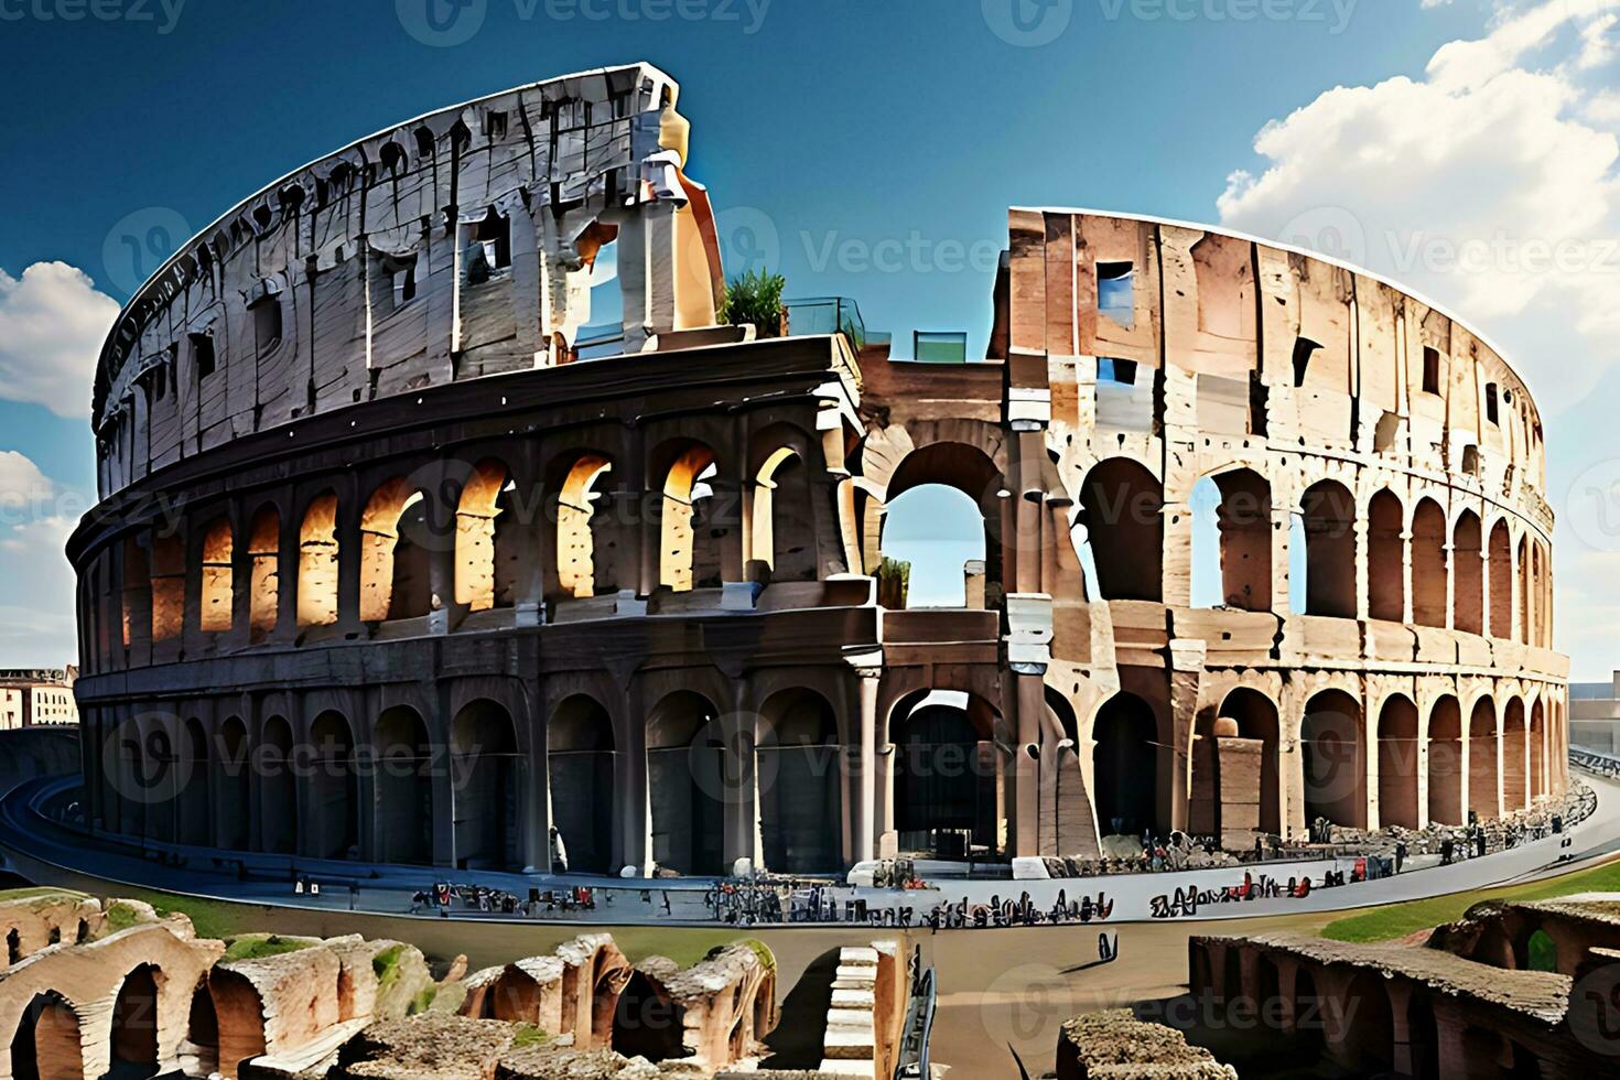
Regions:
[[782, 690], [760, 709], [760, 839], [765, 866], [802, 874], [838, 870], [838, 721], [813, 690]]

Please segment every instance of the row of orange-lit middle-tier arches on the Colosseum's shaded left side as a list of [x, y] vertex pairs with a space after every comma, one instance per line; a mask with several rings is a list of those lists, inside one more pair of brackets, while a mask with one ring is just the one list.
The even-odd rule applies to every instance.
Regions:
[[[671, 439], [650, 452], [645, 491], [611, 487], [629, 466], [604, 450], [561, 455], [531, 489], [499, 458], [483, 458], [446, 476], [389, 476], [358, 507], [342, 505], [335, 489], [318, 491], [295, 523], [272, 502], [241, 523], [227, 512], [202, 517], [193, 555], [178, 529], [130, 534], [118, 551], [122, 646], [147, 635], [154, 643], [181, 638], [188, 609], [202, 633], [241, 630], [251, 643], [277, 633], [282, 620], [298, 631], [339, 623], [348, 615], [340, 596], [348, 560], [358, 578], [348, 619], [358, 623], [620, 589], [815, 580], [807, 466], [815, 445], [794, 424], [771, 424], [753, 437], [739, 483], [723, 476], [708, 442]], [[650, 555], [630, 533], [645, 534]]]

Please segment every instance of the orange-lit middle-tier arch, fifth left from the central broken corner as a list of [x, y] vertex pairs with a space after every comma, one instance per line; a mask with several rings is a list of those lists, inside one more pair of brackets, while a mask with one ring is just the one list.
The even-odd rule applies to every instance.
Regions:
[[381, 484], [360, 515], [360, 619], [416, 619], [433, 607], [428, 499], [403, 478]]

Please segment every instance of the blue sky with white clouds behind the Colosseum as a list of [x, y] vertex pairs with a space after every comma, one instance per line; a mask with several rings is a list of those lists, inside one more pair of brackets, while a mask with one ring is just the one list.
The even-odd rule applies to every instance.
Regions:
[[[446, 34], [429, 29], [428, 3]], [[1576, 478], [1586, 484], [1580, 491], [1597, 492], [1597, 510], [1620, 507], [1620, 468], [1609, 476], [1612, 452], [1602, 447], [1620, 403], [1609, 363], [1620, 335], [1601, 314], [1605, 283], [1526, 285], [1500, 267], [1484, 282], [1427, 256], [1387, 266], [1401, 261], [1403, 248], [1385, 240], [1422, 227], [1418, 214], [1447, 219], [1450, 240], [1526, 219], [1534, 219], [1524, 225], [1529, 236], [1576, 228], [1592, 246], [1617, 235], [1607, 202], [1594, 214], [1526, 214], [1537, 199], [1614, 199], [1602, 149], [1620, 125], [1607, 91], [1615, 84], [1605, 40], [1614, 6], [0, 0], [8, 102], [0, 126], [0, 486], [10, 478], [13, 489], [49, 492], [21, 513], [10, 508], [13, 497], [0, 518], [0, 555], [10, 563], [0, 665], [60, 661], [71, 648], [71, 631], [63, 636], [71, 622], [60, 617], [71, 601], [68, 578], [39, 541], [45, 521], [60, 526], [76, 515], [71, 495], [91, 487], [83, 413], [92, 356], [79, 342], [105, 322], [96, 293], [122, 301], [160, 261], [167, 236], [178, 241], [355, 138], [518, 83], [638, 58], [682, 84], [693, 125], [690, 172], [723, 210], [729, 269], [763, 253], [786, 274], [789, 295], [855, 296], [868, 327], [894, 334], [896, 355], [907, 353], [914, 329], [967, 330], [970, 351], [983, 348], [1009, 204], [1226, 220], [1268, 235], [1301, 214], [1311, 225], [1328, 206], [1330, 223], [1338, 223], [1333, 214], [1349, 215], [1374, 269], [1418, 279], [1508, 347], [1542, 402], [1552, 486], [1563, 492], [1549, 494], [1554, 508], [1563, 512]], [[73, 13], [83, 18], [68, 21]], [[1486, 118], [1516, 92], [1539, 105], [1513, 115], [1534, 113], [1544, 126], [1526, 120], [1523, 131], [1502, 125], [1495, 134], [1461, 136], [1468, 125], [1413, 105], [1424, 92]], [[1290, 123], [1296, 110], [1315, 110], [1309, 115], [1325, 123], [1312, 128], [1333, 131], [1335, 142], [1312, 144]], [[1434, 130], [1424, 131], [1430, 113]], [[1262, 131], [1270, 142], [1257, 149]], [[1443, 144], [1432, 154], [1371, 162], [1379, 147], [1427, 146], [1430, 136]], [[1554, 183], [1536, 168], [1537, 154], [1578, 154], [1581, 168], [1565, 170], [1576, 180]], [[1371, 162], [1354, 185], [1361, 173], [1346, 160]], [[1482, 173], [1492, 183], [1479, 193]], [[1458, 198], [1458, 178], [1471, 178], [1468, 198]], [[50, 262], [78, 267], [92, 285], [63, 280], [66, 270], [49, 282], [44, 272], [24, 275]], [[1601, 274], [1588, 267], [1586, 277]], [[71, 342], [29, 337], [44, 321], [40, 308], [55, 311], [39, 296], [73, 298], [75, 288], [84, 303], [49, 316], [73, 322], [60, 335]], [[1580, 293], [1580, 303], [1565, 293]], [[8, 343], [8, 329], [19, 325], [26, 334]], [[1550, 356], [1524, 355], [1542, 353], [1545, 342]], [[65, 387], [79, 384], [75, 400]], [[1568, 630], [1560, 644], [1576, 653], [1578, 674], [1602, 677], [1610, 664], [1602, 631], [1615, 614], [1602, 586], [1620, 570], [1609, 565], [1620, 557], [1620, 513], [1615, 531], [1604, 513], [1586, 518], [1588, 542], [1560, 536], [1560, 583], [1575, 585], [1560, 601]]]

